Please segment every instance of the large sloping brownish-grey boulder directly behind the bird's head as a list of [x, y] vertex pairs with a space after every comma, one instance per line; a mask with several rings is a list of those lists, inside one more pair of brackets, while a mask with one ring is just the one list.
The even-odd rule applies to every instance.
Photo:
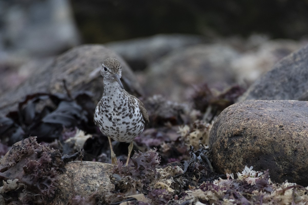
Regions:
[[122, 64], [122, 83], [127, 91], [141, 94], [142, 90], [132, 70], [115, 52], [102, 45], [82, 45], [49, 60], [41, 68], [30, 69], [32, 74], [20, 86], [0, 96], [0, 116], [16, 110], [26, 95], [65, 93], [63, 80], [72, 95], [90, 91], [97, 102], [103, 95], [103, 78], [100, 67], [106, 58], [113, 57]]

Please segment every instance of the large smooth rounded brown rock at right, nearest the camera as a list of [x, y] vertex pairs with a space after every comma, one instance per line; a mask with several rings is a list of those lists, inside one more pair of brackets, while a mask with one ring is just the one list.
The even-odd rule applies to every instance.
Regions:
[[216, 171], [236, 173], [245, 165], [270, 170], [277, 183], [308, 186], [308, 102], [249, 100], [221, 112], [210, 131]]

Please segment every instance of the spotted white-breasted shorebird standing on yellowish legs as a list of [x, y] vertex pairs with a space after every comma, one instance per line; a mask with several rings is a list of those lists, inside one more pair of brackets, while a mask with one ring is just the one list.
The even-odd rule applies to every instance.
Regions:
[[100, 74], [103, 76], [104, 92], [95, 108], [94, 122], [108, 137], [112, 164], [117, 164], [117, 159], [112, 149], [111, 138], [130, 143], [125, 165], [128, 166], [133, 140], [149, 123], [148, 112], [138, 98], [124, 90], [120, 80], [122, 69], [119, 60], [104, 60]]

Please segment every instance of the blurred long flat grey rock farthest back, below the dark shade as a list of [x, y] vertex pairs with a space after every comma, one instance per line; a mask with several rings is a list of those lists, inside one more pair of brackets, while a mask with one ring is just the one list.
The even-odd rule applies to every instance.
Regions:
[[142, 70], [173, 50], [204, 42], [205, 37], [198, 35], [157, 34], [104, 45], [122, 56], [134, 70]]

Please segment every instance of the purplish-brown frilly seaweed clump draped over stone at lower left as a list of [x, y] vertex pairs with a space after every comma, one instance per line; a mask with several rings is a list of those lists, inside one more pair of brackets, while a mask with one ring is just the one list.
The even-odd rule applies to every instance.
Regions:
[[[0, 200], [16, 204], [46, 204], [65, 171], [59, 150], [40, 145], [36, 137], [15, 143], [0, 164]], [[3, 180], [3, 183], [2, 183]]]

